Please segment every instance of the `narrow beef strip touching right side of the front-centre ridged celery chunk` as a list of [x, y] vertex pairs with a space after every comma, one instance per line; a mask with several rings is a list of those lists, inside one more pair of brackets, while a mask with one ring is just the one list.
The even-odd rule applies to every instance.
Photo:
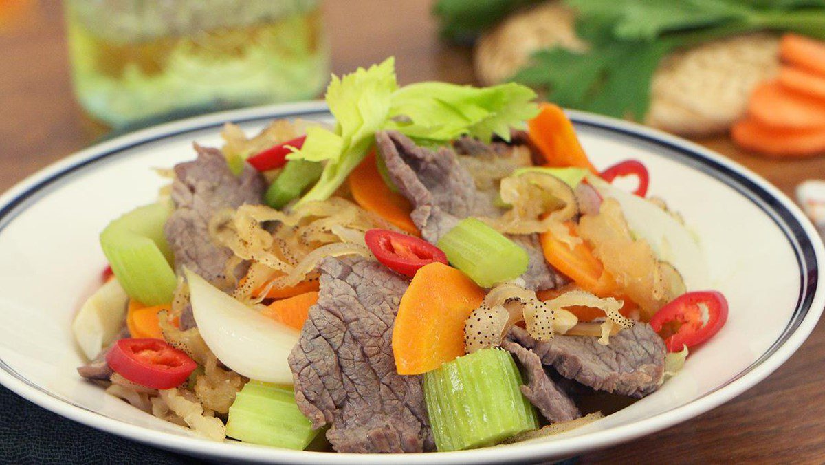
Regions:
[[582, 412], [578, 410], [567, 392], [557, 386], [544, 371], [541, 358], [535, 352], [512, 340], [505, 340], [502, 348], [518, 358], [527, 377], [527, 384], [521, 387], [521, 392], [539, 409], [544, 418], [552, 423], [558, 423], [576, 420], [582, 416]]

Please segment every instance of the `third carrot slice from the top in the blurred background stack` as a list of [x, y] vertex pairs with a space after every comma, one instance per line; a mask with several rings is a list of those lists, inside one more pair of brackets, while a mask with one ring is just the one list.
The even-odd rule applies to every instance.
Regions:
[[747, 111], [763, 125], [777, 129], [825, 129], [825, 102], [792, 92], [778, 80], [759, 85]]

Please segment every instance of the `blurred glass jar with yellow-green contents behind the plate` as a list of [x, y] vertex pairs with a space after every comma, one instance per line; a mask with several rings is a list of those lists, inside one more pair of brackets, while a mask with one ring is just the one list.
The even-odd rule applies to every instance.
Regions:
[[318, 96], [318, 0], [68, 0], [74, 92], [115, 128]]

